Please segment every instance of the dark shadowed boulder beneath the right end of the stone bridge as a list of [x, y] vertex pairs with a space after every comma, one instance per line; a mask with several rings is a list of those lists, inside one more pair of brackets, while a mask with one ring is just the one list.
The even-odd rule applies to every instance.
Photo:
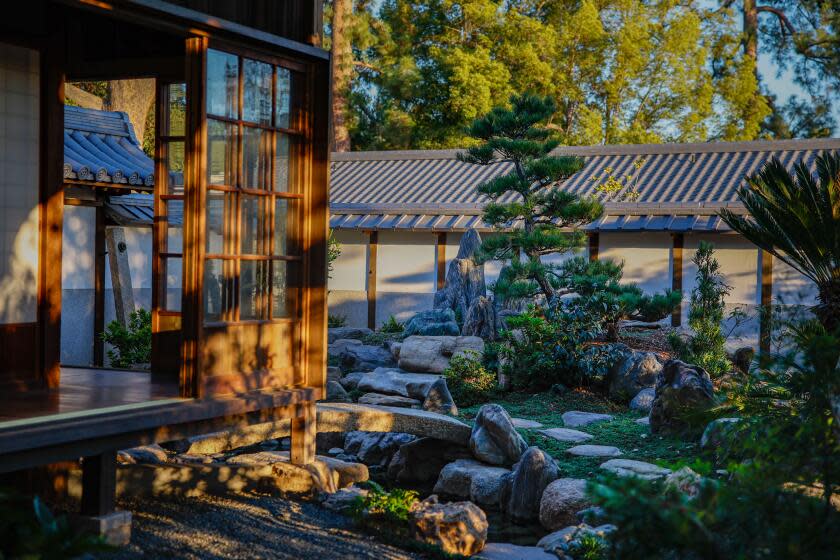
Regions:
[[470, 450], [463, 445], [420, 438], [400, 446], [388, 465], [388, 477], [399, 484], [433, 482], [446, 465], [470, 457]]

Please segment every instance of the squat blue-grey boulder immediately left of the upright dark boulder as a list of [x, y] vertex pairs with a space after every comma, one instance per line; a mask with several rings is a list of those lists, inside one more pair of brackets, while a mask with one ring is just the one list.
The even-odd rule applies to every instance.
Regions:
[[480, 505], [499, 504], [508, 469], [491, 467], [472, 459], [459, 459], [440, 471], [435, 483], [435, 494], [469, 498]]

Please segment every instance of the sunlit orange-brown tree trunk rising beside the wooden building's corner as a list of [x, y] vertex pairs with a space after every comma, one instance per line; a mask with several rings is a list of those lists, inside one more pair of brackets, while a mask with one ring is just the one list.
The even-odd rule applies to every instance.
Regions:
[[350, 151], [347, 113], [353, 79], [353, 49], [347, 26], [353, 15], [353, 0], [333, 0], [332, 20], [332, 149]]

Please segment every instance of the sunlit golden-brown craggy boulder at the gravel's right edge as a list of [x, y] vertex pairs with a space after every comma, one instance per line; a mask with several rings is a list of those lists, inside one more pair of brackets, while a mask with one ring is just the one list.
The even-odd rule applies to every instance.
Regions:
[[441, 504], [429, 496], [412, 506], [409, 526], [415, 539], [440, 547], [447, 554], [472, 556], [487, 541], [487, 516], [470, 502]]

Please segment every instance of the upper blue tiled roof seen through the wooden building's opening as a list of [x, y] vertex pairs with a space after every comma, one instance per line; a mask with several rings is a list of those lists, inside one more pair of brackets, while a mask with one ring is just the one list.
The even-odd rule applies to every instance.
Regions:
[[125, 113], [65, 106], [64, 178], [149, 187], [154, 163]]

